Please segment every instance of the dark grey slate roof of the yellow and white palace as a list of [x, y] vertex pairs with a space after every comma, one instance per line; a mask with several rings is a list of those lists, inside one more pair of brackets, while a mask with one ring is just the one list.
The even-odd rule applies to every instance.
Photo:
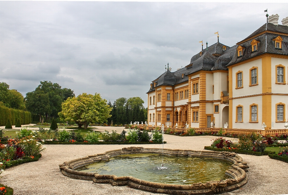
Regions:
[[[264, 53], [288, 55], [288, 35], [280, 35], [280, 37], [283, 39], [281, 44], [282, 48], [276, 49], [273, 39], [279, 35], [269, 32], [261, 34], [264, 31], [288, 34], [288, 26], [276, 26], [271, 23], [266, 23], [233, 47], [229, 47], [217, 42], [209, 46], [207, 50], [206, 48], [203, 49], [201, 51], [202, 55], [200, 55], [200, 52], [194, 55], [190, 60], [190, 64], [188, 64], [186, 67], [181, 68], [175, 72], [170, 72], [169, 70], [164, 72], [157, 79], [152, 81], [152, 88], [147, 93], [155, 91], [154, 82], [156, 82], [155, 87], [159, 87], [161, 85], [174, 86], [176, 84], [187, 82], [187, 75], [190, 75], [199, 70], [227, 70], [227, 66], [229, 65], [253, 58]], [[258, 34], [261, 35], [256, 36]], [[257, 43], [257, 50], [254, 52], [252, 52], [252, 46], [250, 44], [253, 40], [251, 37], [254, 37], [253, 39], [259, 41], [259, 43]], [[237, 47], [239, 45], [244, 48], [242, 52], [243, 55], [241, 57], [238, 57], [237, 53]], [[226, 46], [226, 50], [223, 50], [223, 46]], [[184, 74], [184, 78], [182, 78], [182, 74]]]

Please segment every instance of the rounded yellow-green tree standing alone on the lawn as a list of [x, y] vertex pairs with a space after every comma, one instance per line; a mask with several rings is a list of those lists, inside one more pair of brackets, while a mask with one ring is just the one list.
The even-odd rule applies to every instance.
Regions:
[[59, 116], [62, 120], [75, 121], [79, 127], [87, 129], [89, 123], [104, 123], [111, 117], [112, 108], [99, 93], [95, 95], [82, 93], [77, 97], [69, 97], [62, 103]]

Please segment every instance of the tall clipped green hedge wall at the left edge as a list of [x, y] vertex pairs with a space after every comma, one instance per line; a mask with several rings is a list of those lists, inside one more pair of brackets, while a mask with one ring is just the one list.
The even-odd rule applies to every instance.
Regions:
[[30, 124], [32, 122], [30, 112], [0, 106], [0, 126], [5, 126], [8, 118], [10, 118], [12, 125], [16, 124], [17, 119], [20, 119], [21, 125]]

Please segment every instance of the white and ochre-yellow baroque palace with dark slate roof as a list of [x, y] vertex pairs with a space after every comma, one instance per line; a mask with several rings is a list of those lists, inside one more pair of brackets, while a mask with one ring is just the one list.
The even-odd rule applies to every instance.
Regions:
[[[150, 84], [148, 125], [284, 129], [288, 119], [288, 17], [279, 16], [235, 46], [218, 42], [184, 68]], [[286, 112], [287, 111], [287, 112]]]

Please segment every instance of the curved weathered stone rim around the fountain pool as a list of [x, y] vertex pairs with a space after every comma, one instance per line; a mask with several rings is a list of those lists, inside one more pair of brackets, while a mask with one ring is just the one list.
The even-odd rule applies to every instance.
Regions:
[[247, 163], [234, 152], [214, 152], [206, 150], [180, 150], [164, 149], [164, 155], [189, 156], [189, 157], [213, 157], [226, 159], [233, 162], [232, 168], [225, 171], [225, 174], [232, 177], [221, 181], [210, 181], [205, 183], [194, 183], [191, 185], [174, 185], [156, 182], [148, 182], [132, 176], [117, 177], [115, 175], [99, 175], [98, 173], [87, 173], [76, 171], [75, 169], [97, 161], [108, 160], [110, 157], [126, 154], [153, 153], [162, 154], [162, 149], [128, 147], [118, 150], [107, 151], [103, 154], [89, 155], [85, 158], [78, 158], [60, 164], [60, 170], [64, 176], [73, 179], [91, 180], [95, 183], [109, 183], [113, 186], [127, 185], [131, 188], [162, 194], [219, 194], [240, 188], [247, 183], [246, 172]]

